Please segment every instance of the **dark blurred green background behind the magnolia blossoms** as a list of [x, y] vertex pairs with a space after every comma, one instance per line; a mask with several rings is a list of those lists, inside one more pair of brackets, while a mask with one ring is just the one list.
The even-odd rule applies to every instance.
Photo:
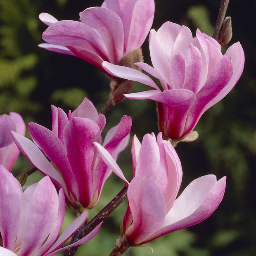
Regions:
[[[75, 109], [88, 97], [101, 109], [109, 95], [109, 78], [81, 59], [39, 48], [47, 26], [40, 12], [59, 20], [78, 20], [85, 8], [100, 6], [99, 0], [0, 0], [0, 114], [16, 111], [26, 123], [35, 121], [51, 127], [50, 104], [65, 111]], [[156, 0], [152, 28], [165, 21], [213, 33], [220, 1]], [[256, 77], [255, 77], [255, 2], [230, 0], [227, 15], [232, 18], [233, 38], [228, 46], [240, 41], [245, 52], [245, 67], [235, 88], [221, 102], [206, 111], [195, 130], [199, 138], [180, 143], [176, 150], [183, 165], [182, 189], [194, 178], [213, 173], [227, 176], [224, 199], [213, 215], [198, 225], [173, 232], [148, 244], [153, 248], [132, 248], [126, 255], [171, 256], [251, 256], [256, 251]], [[227, 46], [227, 47], [228, 47]], [[225, 53], [227, 47], [223, 47]], [[145, 62], [151, 64], [147, 40], [143, 45]], [[133, 92], [148, 90], [135, 83]], [[133, 118], [131, 136], [142, 140], [145, 133], [157, 133], [156, 110], [149, 100], [124, 100], [107, 113], [107, 130], [127, 114]], [[27, 134], [29, 137], [29, 135]], [[118, 161], [126, 177], [132, 175], [130, 146]], [[14, 174], [29, 167], [22, 156]], [[33, 174], [29, 182], [38, 180]], [[107, 181], [102, 197], [90, 213], [92, 218], [123, 187], [114, 175]], [[119, 236], [119, 225], [126, 210], [121, 205], [102, 225], [99, 234], [81, 246], [77, 255], [108, 255]], [[66, 223], [74, 218], [66, 214]], [[60, 254], [62, 255], [62, 254]]]

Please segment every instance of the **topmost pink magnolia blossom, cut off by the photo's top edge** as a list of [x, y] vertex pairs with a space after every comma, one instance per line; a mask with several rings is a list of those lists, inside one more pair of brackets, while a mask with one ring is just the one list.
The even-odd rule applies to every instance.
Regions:
[[[47, 13], [39, 15], [49, 28], [40, 44], [47, 50], [79, 57], [97, 68], [102, 62], [118, 64], [145, 41], [153, 23], [154, 0], [105, 0], [101, 7], [80, 13], [80, 21], [57, 21]], [[110, 75], [109, 75], [110, 76]]]

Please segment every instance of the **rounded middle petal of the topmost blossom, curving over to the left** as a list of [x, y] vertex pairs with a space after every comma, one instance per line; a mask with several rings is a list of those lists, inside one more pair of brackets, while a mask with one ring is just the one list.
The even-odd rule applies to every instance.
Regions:
[[[107, 50], [108, 60], [117, 64], [123, 57], [123, 25], [120, 17], [110, 9], [92, 7], [85, 9], [80, 17], [86, 30], [96, 31]], [[96, 41], [89, 39], [92, 45]]]

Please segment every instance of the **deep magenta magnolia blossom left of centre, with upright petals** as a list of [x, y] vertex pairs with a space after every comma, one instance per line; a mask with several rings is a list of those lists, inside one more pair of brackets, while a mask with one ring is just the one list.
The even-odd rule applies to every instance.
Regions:
[[[84, 208], [95, 206], [104, 182], [111, 174], [93, 145], [93, 142], [101, 144], [101, 131], [105, 123], [105, 116], [99, 115], [92, 102], [85, 98], [68, 115], [52, 106], [52, 131], [37, 123], [29, 123], [28, 130], [36, 145], [17, 133], [13, 135], [28, 161], [41, 173], [49, 175], [58, 188], [62, 187], [69, 204], [82, 212], [86, 210]], [[128, 145], [131, 124], [131, 118], [123, 116], [105, 137], [103, 147], [114, 159]]]

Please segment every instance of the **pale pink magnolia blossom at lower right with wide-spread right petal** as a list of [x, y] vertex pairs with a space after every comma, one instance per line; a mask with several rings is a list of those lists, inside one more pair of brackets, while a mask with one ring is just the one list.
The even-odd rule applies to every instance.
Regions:
[[[96, 143], [95, 143], [96, 144]], [[104, 161], [120, 172], [114, 159], [97, 144]], [[180, 159], [161, 133], [136, 136], [132, 144], [133, 179], [128, 184], [128, 208], [116, 243], [139, 245], [208, 218], [225, 192], [226, 177], [205, 175], [193, 180], [176, 199], [182, 180]], [[128, 242], [128, 243], [127, 243]], [[122, 246], [121, 246], [122, 245]], [[111, 254], [112, 255], [112, 254]], [[113, 254], [114, 255], [114, 254]]]

